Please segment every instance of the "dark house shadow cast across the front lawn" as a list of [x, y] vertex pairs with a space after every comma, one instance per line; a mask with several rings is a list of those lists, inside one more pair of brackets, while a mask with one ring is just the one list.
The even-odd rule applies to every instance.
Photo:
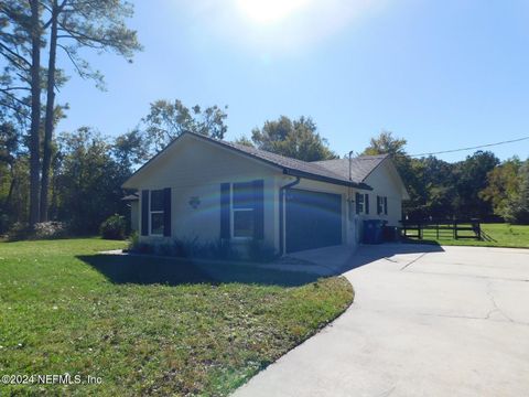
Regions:
[[78, 259], [105, 275], [114, 283], [190, 285], [257, 283], [298, 287], [315, 281], [319, 276], [299, 271], [266, 269], [230, 262], [204, 264], [187, 259], [127, 255], [85, 255]]

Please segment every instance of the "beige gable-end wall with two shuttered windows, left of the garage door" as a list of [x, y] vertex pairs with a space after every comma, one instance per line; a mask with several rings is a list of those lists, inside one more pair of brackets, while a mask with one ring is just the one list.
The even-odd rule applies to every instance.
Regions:
[[[267, 164], [207, 141], [183, 137], [183, 141], [166, 151], [163, 158], [158, 159], [155, 164], [144, 170], [141, 178], [132, 182], [139, 190], [171, 187], [172, 238], [196, 238], [206, 243], [220, 237], [220, 183], [263, 180], [264, 239], [277, 246], [276, 174], [278, 171]], [[196, 208], [190, 204], [192, 197], [199, 200]], [[152, 242], [169, 240], [163, 237], [141, 238]]]

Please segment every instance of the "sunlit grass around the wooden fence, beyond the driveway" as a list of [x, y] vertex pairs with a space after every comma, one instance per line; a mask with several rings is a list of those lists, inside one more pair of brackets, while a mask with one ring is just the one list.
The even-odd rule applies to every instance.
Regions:
[[529, 248], [529, 225], [482, 224], [482, 235], [483, 240], [479, 242], [475, 239], [453, 239], [451, 233], [445, 232], [438, 239], [435, 230], [424, 230], [422, 240], [417, 238], [409, 238], [408, 240], [410, 243], [430, 243], [449, 246]]

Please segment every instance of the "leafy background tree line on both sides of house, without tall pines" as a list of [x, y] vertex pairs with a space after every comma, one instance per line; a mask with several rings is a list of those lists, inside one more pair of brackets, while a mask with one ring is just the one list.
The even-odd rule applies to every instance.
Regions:
[[[67, 222], [76, 233], [95, 233], [112, 214], [127, 214], [121, 184], [141, 163], [186, 131], [223, 139], [226, 108], [187, 108], [180, 100], [158, 100], [132, 130], [115, 138], [89, 127], [53, 139], [50, 218]], [[304, 161], [336, 159], [310, 117], [281, 116], [236, 140]], [[529, 223], [529, 160], [500, 162], [477, 151], [449, 163], [433, 155], [412, 158], [407, 141], [382, 131], [360, 154], [391, 154], [410, 193], [403, 216], [469, 218]], [[30, 158], [24, 137], [10, 124], [0, 126], [0, 227], [25, 223], [30, 207]]]

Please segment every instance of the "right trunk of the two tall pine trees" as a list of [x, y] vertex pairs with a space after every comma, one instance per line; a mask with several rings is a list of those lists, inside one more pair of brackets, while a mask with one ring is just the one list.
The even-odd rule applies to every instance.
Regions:
[[47, 221], [48, 190], [50, 190], [50, 167], [52, 163], [52, 137], [54, 127], [55, 108], [55, 60], [57, 51], [57, 0], [52, 6], [52, 25], [50, 35], [50, 58], [47, 66], [47, 98], [46, 118], [44, 124], [44, 151], [42, 158], [42, 181], [41, 181], [41, 222]]

